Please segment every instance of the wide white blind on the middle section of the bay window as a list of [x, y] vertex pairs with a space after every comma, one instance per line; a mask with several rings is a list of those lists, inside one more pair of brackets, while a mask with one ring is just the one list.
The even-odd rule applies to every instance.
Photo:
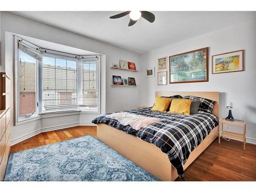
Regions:
[[42, 111], [75, 109], [77, 102], [77, 61], [42, 57]]

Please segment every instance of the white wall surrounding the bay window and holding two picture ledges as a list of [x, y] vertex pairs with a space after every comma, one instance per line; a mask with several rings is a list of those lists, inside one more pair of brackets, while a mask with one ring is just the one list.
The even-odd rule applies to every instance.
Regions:
[[[6, 73], [9, 74], [12, 79], [13, 35], [11, 33], [34, 37], [37, 39], [55, 42], [56, 44], [66, 45], [103, 54], [101, 59], [101, 114], [118, 110], [134, 109], [136, 108], [136, 106], [140, 105], [140, 87], [121, 88], [110, 86], [110, 84], [112, 83], [112, 75], [121, 75], [122, 77], [126, 78], [127, 76], [132, 76], [135, 77], [137, 83], [140, 84], [139, 73], [110, 69], [112, 63], [118, 63], [119, 59], [133, 61], [136, 63], [137, 68], [140, 69], [139, 54], [115, 46], [111, 46], [101, 41], [84, 37], [72, 32], [42, 24], [32, 19], [18, 16], [9, 12], [2, 12], [1, 60], [3, 69], [1, 68], [1, 70], [6, 71]], [[106, 100], [108, 102], [106, 102]], [[11, 105], [11, 111], [13, 114], [13, 103]], [[91, 122], [92, 119], [97, 116], [99, 116], [99, 114], [80, 114], [44, 118], [18, 126], [13, 126], [13, 118], [11, 118], [11, 140], [13, 141], [19, 138], [16, 141], [21, 141], [22, 139], [31, 136], [31, 133], [38, 133], [38, 130], [49, 130], [46, 128], [49, 128], [50, 126], [58, 129], [60, 127], [77, 125], [77, 123], [79, 124], [79, 122], [82, 122], [83, 124], [88, 124]]]

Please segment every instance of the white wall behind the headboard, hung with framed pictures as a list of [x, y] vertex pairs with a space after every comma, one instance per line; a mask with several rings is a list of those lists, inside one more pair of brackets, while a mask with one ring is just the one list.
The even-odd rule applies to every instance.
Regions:
[[[218, 91], [220, 94], [220, 117], [227, 116], [226, 102], [233, 102], [233, 116], [247, 121], [247, 140], [256, 143], [256, 19], [230, 26], [218, 31], [190, 38], [176, 44], [145, 53], [141, 57], [143, 70], [155, 66], [157, 59], [186, 51], [209, 47], [209, 82], [177, 83], [157, 86], [154, 78], [141, 78], [141, 104], [152, 106], [156, 91]], [[211, 74], [211, 55], [245, 50], [245, 71]], [[168, 72], [169, 75], [169, 72]]]

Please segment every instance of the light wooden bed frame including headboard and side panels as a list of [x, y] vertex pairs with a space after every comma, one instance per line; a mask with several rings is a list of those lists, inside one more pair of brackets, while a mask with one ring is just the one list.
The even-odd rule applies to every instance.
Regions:
[[[211, 99], [217, 101], [214, 105], [213, 114], [219, 117], [219, 94], [219, 92], [156, 92], [156, 97], [193, 95]], [[218, 126], [190, 154], [188, 160], [183, 165], [184, 170], [217, 138], [217, 132]], [[138, 137], [126, 134], [103, 123], [97, 124], [97, 137], [161, 181], [174, 181], [178, 177], [177, 170], [170, 164], [167, 155], [152, 143], [143, 141]]]

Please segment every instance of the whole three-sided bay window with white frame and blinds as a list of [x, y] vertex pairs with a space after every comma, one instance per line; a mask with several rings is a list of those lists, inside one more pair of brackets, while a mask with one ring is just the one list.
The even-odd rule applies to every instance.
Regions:
[[99, 113], [99, 55], [46, 50], [16, 39], [16, 124], [43, 114]]

